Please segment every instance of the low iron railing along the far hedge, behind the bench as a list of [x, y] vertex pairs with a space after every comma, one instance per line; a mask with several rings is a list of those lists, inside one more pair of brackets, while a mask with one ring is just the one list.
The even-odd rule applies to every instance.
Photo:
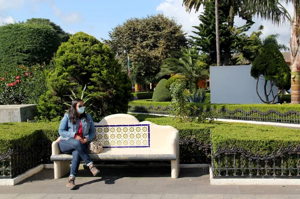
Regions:
[[[131, 112], [142, 112], [142, 113], [156, 113], [156, 114], [171, 114], [171, 107], [154, 107], [150, 106], [128, 106], [128, 111]], [[215, 111], [212, 107], [208, 107], [202, 111]], [[199, 114], [200, 111], [195, 111], [196, 114]], [[197, 116], [197, 115], [194, 115]], [[290, 110], [285, 113], [280, 113], [276, 110], [268, 110], [266, 112], [261, 112], [257, 109], [252, 109], [250, 111], [244, 111], [242, 109], [235, 109], [230, 111], [226, 108], [222, 108], [216, 111], [216, 118], [219, 119], [235, 119], [235, 120], [251, 120], [251, 121], [264, 121], [264, 122], [280, 122], [280, 123], [300, 123], [300, 112]]]

